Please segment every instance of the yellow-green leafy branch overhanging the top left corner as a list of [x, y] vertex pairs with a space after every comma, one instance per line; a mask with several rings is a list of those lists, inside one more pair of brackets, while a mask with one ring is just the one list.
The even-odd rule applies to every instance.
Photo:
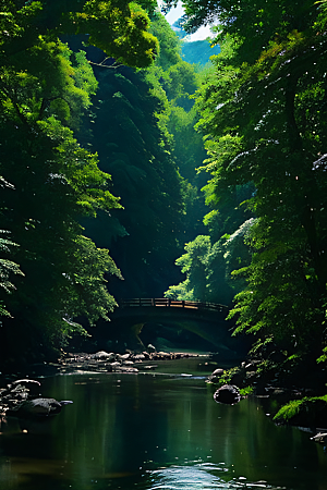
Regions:
[[1, 11], [2, 57], [63, 34], [87, 34], [89, 45], [133, 66], [149, 65], [158, 51], [156, 38], [147, 30], [146, 12], [125, 0], [2, 1]]

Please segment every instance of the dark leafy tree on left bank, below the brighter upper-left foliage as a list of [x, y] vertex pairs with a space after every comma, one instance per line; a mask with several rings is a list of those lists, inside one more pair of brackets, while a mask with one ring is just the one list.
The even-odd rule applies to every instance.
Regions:
[[[62, 339], [69, 333], [66, 319], [71, 321], [78, 313], [76, 301], [70, 297], [80, 298], [80, 315], [85, 314], [90, 321], [96, 310], [98, 316], [107, 316], [105, 297], [107, 311], [114, 305], [102, 279], [109, 270], [104, 260], [102, 268], [93, 271], [97, 285], [93, 297], [102, 296], [98, 302], [89, 303], [87, 279], [84, 283], [77, 280], [83, 270], [78, 217], [117, 206], [117, 199], [106, 189], [108, 175], [58, 121], [50, 118], [36, 127], [38, 134], [24, 128], [10, 134], [8, 127], [0, 132], [5, 147], [1, 168], [15, 187], [2, 193], [2, 222], [20, 244], [14, 258], [25, 274], [15, 281], [15, 294], [8, 299], [13, 317], [4, 323], [8, 342], [12, 335], [14, 341], [17, 332], [21, 340], [25, 335], [33, 340], [36, 332], [44, 342]], [[104, 253], [94, 250], [94, 261]], [[85, 297], [88, 311], [81, 304]], [[26, 340], [24, 348], [27, 345]]]

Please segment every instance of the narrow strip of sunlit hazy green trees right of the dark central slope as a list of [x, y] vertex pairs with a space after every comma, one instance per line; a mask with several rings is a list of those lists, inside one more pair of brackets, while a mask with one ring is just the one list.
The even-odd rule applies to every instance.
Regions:
[[195, 65], [181, 58], [181, 41], [162, 15], [154, 17], [152, 29], [159, 39], [160, 56], [147, 69], [147, 79], [152, 81], [157, 93], [164, 90], [166, 94], [161, 120], [168, 131], [178, 169], [184, 179], [182, 193], [185, 209], [179, 237], [182, 244], [205, 232], [202, 223], [205, 206], [199, 193], [205, 180], [197, 174], [196, 168], [202, 164], [206, 154], [202, 134], [194, 128], [198, 113], [193, 100], [201, 84], [201, 75]]

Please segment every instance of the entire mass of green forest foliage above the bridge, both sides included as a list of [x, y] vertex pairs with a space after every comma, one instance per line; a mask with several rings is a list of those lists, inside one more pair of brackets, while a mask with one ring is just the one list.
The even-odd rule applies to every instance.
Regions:
[[326, 362], [326, 2], [183, 4], [203, 72], [154, 1], [0, 3], [2, 356], [168, 289]]

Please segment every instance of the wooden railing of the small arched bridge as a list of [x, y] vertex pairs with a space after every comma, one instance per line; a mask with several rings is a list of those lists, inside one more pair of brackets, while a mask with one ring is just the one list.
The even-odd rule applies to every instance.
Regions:
[[217, 303], [178, 301], [168, 297], [134, 297], [131, 299], [122, 299], [119, 303], [119, 306], [121, 308], [156, 306], [164, 308], [206, 309], [213, 311], [226, 311], [228, 309], [228, 306], [219, 305]]

